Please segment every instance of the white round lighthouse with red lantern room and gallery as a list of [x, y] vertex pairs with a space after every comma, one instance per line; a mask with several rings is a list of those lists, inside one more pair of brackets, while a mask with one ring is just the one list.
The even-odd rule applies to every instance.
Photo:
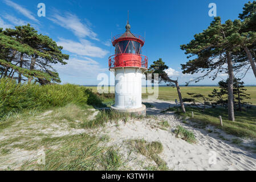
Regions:
[[115, 55], [108, 59], [109, 70], [115, 73], [115, 105], [113, 110], [137, 115], [146, 114], [141, 103], [141, 78], [148, 68], [148, 57], [141, 54], [145, 39], [132, 34], [129, 19], [124, 34], [112, 38]]

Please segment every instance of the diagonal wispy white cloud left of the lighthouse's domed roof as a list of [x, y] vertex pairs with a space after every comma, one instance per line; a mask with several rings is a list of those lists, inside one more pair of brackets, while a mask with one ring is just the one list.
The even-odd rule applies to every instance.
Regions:
[[66, 13], [66, 15], [61, 16], [55, 13], [49, 19], [52, 22], [59, 24], [59, 26], [71, 30], [79, 38], [85, 38], [88, 36], [91, 39], [99, 40], [96, 38], [97, 34], [95, 34], [95, 32], [93, 32], [91, 28], [87, 26], [87, 24], [83, 24], [81, 20], [74, 14]]

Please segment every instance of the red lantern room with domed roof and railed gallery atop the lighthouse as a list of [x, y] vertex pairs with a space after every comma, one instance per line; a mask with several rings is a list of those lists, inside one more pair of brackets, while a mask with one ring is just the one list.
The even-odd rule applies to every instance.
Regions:
[[141, 48], [145, 40], [142, 36], [132, 34], [129, 20], [125, 26], [124, 34], [116, 35], [112, 38], [115, 47], [115, 55], [109, 57], [109, 69], [135, 67], [148, 68], [148, 57], [141, 55]]

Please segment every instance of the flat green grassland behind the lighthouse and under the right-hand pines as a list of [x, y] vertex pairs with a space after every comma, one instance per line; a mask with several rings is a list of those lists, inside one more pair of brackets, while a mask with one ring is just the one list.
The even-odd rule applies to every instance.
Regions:
[[[90, 87], [93, 92], [97, 92], [96, 87]], [[219, 89], [217, 86], [194, 86], [194, 87], [181, 87], [182, 97], [190, 96], [187, 93], [200, 93], [204, 96], [208, 96], [213, 89]], [[145, 88], [142, 88], [143, 98], [147, 98], [149, 94], [145, 93]], [[256, 105], [256, 86], [246, 87], [246, 93], [250, 94], [250, 100], [252, 105]], [[172, 87], [159, 87], [159, 100], [175, 101], [178, 100], [177, 90]], [[110, 102], [112, 100], [112, 102]], [[105, 102], [105, 100], [104, 100]], [[113, 98], [109, 98], [104, 104], [114, 104]], [[110, 104], [111, 103], [111, 104]], [[191, 112], [194, 111], [194, 118], [192, 121], [199, 122], [200, 125], [213, 125], [226, 131], [226, 133], [236, 135], [238, 137], [256, 138], [256, 113], [255, 109], [247, 109], [246, 111], [235, 111], [235, 122], [227, 119], [227, 109], [224, 108], [212, 108], [206, 109], [205, 112], [195, 107], [186, 107], [186, 113], [183, 114], [178, 111], [177, 108], [170, 108], [170, 110], [176, 111], [182, 118], [191, 117]], [[224, 127], [220, 127], [219, 115], [222, 116]]]

